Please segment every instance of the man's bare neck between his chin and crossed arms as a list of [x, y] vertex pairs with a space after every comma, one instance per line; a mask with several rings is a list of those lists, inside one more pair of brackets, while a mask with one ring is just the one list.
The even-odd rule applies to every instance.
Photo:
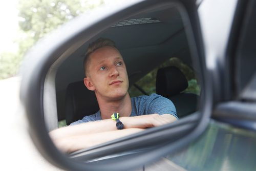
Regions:
[[128, 93], [120, 100], [98, 100], [98, 103], [102, 119], [110, 119], [115, 112], [118, 112], [120, 117], [130, 116], [132, 113], [132, 102]]

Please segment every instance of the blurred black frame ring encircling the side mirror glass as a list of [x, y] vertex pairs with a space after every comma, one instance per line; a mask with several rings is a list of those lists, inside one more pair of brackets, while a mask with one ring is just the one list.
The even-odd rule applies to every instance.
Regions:
[[[197, 126], [191, 130], [191, 132], [179, 140], [166, 144], [165, 146], [155, 149], [148, 153], [142, 153], [138, 156], [116, 161], [115, 165], [112, 163], [82, 163], [76, 160], [70, 159], [67, 155], [62, 154], [55, 147], [51, 141], [47, 128], [44, 122], [44, 104], [43, 104], [43, 91], [44, 81], [46, 74], [50, 66], [58, 59], [61, 54], [68, 50], [74, 50], [77, 46], [83, 42], [88, 41], [90, 38], [95, 36], [98, 32], [110, 27], [116, 21], [135, 15], [138, 12], [142, 12], [147, 9], [157, 8], [164, 5], [174, 4], [177, 6], [190, 23], [191, 28], [188, 29], [190, 35], [189, 44], [195, 45], [193, 54], [199, 58], [200, 62], [195, 63], [198, 68], [201, 69], [201, 85], [203, 87], [201, 97], [201, 110], [200, 119]], [[205, 130], [208, 125], [209, 116], [212, 109], [212, 88], [211, 79], [208, 71], [205, 67], [203, 42], [201, 36], [201, 29], [199, 24], [199, 17], [197, 12], [197, 6], [195, 1], [191, 0], [180, 0], [180, 1], [158, 1], [158, 0], [147, 0], [141, 1], [137, 4], [125, 7], [124, 9], [113, 10], [109, 13], [105, 13], [104, 17], [97, 18], [96, 22], [84, 24], [83, 16], [75, 18], [49, 36], [48, 38], [40, 41], [28, 54], [26, 61], [26, 70], [24, 70], [22, 85], [20, 89], [20, 98], [25, 106], [25, 112], [29, 120], [29, 133], [34, 141], [38, 151], [52, 164], [68, 170], [127, 170], [135, 168], [145, 161], [150, 163], [156, 158], [159, 158], [167, 153], [178, 149], [195, 138], [197, 138]], [[115, 21], [115, 22], [113, 22]], [[76, 27], [72, 27], [76, 26]], [[99, 29], [100, 28], [100, 29]], [[71, 32], [72, 30], [72, 32]], [[90, 30], [90, 31], [89, 31]], [[67, 34], [68, 33], [68, 34]], [[50, 42], [50, 44], [49, 44]], [[32, 56], [37, 56], [32, 58]], [[30, 61], [29, 61], [30, 60]], [[208, 77], [208, 78], [207, 78]], [[207, 96], [205, 95], [207, 92]], [[143, 163], [145, 164], [145, 163]]]

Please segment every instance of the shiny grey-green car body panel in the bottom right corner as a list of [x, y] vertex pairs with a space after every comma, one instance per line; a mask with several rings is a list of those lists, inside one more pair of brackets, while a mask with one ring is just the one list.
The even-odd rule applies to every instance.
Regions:
[[256, 134], [211, 120], [203, 135], [166, 158], [187, 170], [255, 170]]

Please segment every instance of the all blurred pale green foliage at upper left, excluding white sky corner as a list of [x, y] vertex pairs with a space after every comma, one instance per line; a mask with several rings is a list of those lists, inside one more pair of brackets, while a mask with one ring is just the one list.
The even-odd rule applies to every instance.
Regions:
[[0, 54], [0, 79], [16, 75], [24, 55], [38, 39], [79, 14], [102, 4], [103, 0], [19, 0], [19, 49], [16, 54]]

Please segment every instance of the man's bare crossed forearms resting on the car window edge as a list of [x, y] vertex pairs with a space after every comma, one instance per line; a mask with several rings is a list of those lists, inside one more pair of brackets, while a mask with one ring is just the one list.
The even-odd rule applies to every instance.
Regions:
[[124, 125], [123, 130], [117, 130], [115, 121], [104, 119], [61, 127], [60, 129], [51, 131], [49, 134], [55, 145], [61, 151], [71, 153], [78, 149], [87, 148], [143, 131], [147, 127], [160, 126], [175, 120], [176, 118], [169, 114], [120, 117], [120, 121]]

